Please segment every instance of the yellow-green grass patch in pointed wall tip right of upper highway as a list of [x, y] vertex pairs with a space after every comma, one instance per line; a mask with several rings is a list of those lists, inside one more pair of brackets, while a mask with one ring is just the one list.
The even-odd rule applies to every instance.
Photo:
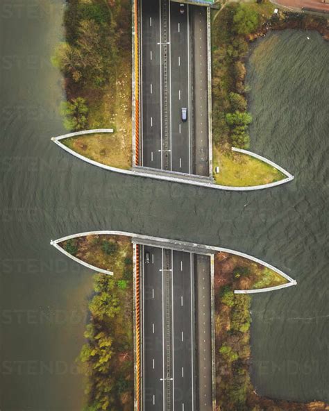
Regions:
[[219, 166], [219, 174], [214, 177], [220, 185], [251, 187], [285, 178], [275, 167], [243, 153], [214, 149], [213, 164]]

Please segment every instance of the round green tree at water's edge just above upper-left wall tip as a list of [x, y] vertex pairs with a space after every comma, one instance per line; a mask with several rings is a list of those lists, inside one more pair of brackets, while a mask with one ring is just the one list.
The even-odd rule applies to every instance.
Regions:
[[88, 111], [86, 101], [82, 97], [62, 102], [60, 113], [65, 116], [65, 128], [69, 131], [85, 129]]

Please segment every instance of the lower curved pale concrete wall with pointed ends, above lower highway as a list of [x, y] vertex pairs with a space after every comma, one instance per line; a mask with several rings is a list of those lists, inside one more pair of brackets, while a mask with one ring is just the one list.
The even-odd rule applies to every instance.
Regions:
[[235, 250], [230, 250], [226, 249], [223, 247], [216, 247], [216, 246], [205, 246], [203, 244], [196, 244], [196, 243], [191, 243], [191, 242], [182, 242], [179, 240], [167, 240], [164, 238], [160, 237], [151, 237], [149, 235], [142, 235], [142, 234], [134, 234], [134, 233], [126, 233], [125, 231], [113, 231], [113, 230], [104, 230], [104, 231], [89, 231], [87, 233], [78, 233], [78, 234], [73, 234], [73, 235], [67, 235], [66, 237], [62, 237], [58, 240], [52, 240], [51, 245], [55, 246], [56, 249], [67, 255], [69, 258], [72, 260], [79, 262], [80, 264], [84, 265], [85, 267], [88, 267], [92, 269], [93, 271], [98, 271], [102, 272], [104, 274], [110, 274], [112, 275], [112, 271], [107, 271], [107, 270], [102, 270], [98, 269], [97, 267], [94, 267], [92, 265], [88, 265], [87, 263], [79, 260], [78, 258], [74, 257], [74, 255], [71, 255], [67, 253], [67, 251], [63, 250], [60, 246], [58, 246], [58, 243], [70, 240], [72, 238], [76, 237], [84, 237], [86, 235], [126, 235], [127, 237], [132, 237], [134, 238], [135, 241], [140, 240], [141, 242], [144, 241], [151, 241], [155, 242], [154, 246], [170, 246], [173, 249], [178, 249], [180, 251], [188, 251], [188, 252], [193, 252], [193, 249], [195, 249], [196, 253], [200, 253], [203, 250], [203, 253], [208, 254], [208, 255], [213, 255], [214, 252], [224, 252], [224, 253], [230, 253], [234, 255], [239, 255], [240, 257], [247, 258], [248, 260], [251, 260], [253, 262], [257, 262], [260, 265], [264, 265], [264, 267], [267, 267], [273, 271], [275, 271], [277, 274], [280, 274], [283, 278], [285, 278], [288, 283], [282, 284], [282, 285], [277, 285], [276, 287], [268, 287], [268, 288], [262, 288], [258, 290], [235, 290], [235, 294], [258, 294], [260, 292], [265, 292], [265, 291], [274, 291], [274, 290], [280, 290], [281, 288], [286, 288], [286, 287], [291, 287], [292, 285], [296, 285], [297, 282], [293, 278], [289, 277], [287, 274], [285, 274], [283, 271], [280, 269], [273, 267], [273, 265], [268, 264], [267, 262], [264, 262], [260, 260], [259, 258], [255, 258], [252, 255], [248, 255], [246, 253], [241, 253], [240, 251], [235, 251]]

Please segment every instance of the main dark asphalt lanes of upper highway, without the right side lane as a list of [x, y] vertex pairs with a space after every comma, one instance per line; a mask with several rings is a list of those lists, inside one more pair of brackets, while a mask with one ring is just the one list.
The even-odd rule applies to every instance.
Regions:
[[[182, 14], [176, 2], [140, 1], [141, 165], [144, 167], [195, 174], [191, 25], [196, 9], [185, 4]], [[183, 107], [187, 108], [187, 121], [182, 120]]]

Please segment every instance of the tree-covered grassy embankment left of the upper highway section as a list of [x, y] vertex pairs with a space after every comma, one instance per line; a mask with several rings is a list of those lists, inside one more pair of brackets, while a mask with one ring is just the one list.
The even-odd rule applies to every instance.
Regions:
[[53, 64], [65, 76], [67, 101], [61, 107], [65, 127], [69, 131], [114, 128], [115, 133], [62, 142], [103, 164], [130, 168], [130, 0], [69, 0], [65, 33], [65, 42], [53, 56]]

